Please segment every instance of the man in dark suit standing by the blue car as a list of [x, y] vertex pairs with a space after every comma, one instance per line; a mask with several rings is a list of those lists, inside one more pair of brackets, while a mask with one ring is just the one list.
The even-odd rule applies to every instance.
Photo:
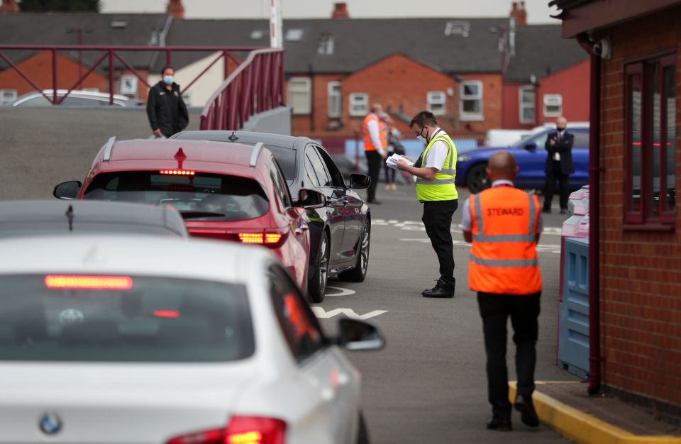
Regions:
[[575, 136], [565, 131], [567, 120], [559, 117], [555, 121], [555, 131], [548, 133], [544, 148], [548, 151], [546, 156], [546, 182], [544, 183], [544, 213], [551, 212], [551, 201], [555, 193], [555, 181], [558, 180], [560, 187], [560, 214], [567, 213], [567, 199], [570, 197], [570, 173], [575, 172], [572, 165], [572, 143]]

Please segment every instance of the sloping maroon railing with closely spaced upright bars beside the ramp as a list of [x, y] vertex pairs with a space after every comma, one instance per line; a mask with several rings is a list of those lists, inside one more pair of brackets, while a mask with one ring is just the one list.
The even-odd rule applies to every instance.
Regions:
[[206, 102], [202, 130], [238, 130], [255, 113], [284, 105], [284, 50], [253, 50]]

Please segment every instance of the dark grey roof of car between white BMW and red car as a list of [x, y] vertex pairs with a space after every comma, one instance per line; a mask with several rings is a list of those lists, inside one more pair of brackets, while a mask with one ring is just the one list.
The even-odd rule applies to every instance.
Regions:
[[[110, 201], [1, 201], [0, 223], [54, 222], [67, 223], [71, 208], [77, 223], [147, 225], [172, 228], [186, 233], [182, 216], [172, 206], [153, 206]], [[66, 225], [65, 225], [66, 226]], [[1, 229], [1, 228], [0, 228]]]

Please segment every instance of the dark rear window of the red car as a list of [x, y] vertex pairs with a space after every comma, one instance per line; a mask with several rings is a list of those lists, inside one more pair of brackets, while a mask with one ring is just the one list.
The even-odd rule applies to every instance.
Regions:
[[195, 172], [109, 172], [94, 178], [85, 199], [175, 206], [182, 217], [206, 221], [243, 221], [270, 209], [260, 184], [247, 177]]

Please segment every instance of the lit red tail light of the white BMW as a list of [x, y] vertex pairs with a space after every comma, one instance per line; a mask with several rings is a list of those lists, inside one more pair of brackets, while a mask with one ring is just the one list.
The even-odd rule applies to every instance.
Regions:
[[166, 444], [284, 444], [286, 423], [258, 416], [232, 416], [226, 428], [176, 436]]

